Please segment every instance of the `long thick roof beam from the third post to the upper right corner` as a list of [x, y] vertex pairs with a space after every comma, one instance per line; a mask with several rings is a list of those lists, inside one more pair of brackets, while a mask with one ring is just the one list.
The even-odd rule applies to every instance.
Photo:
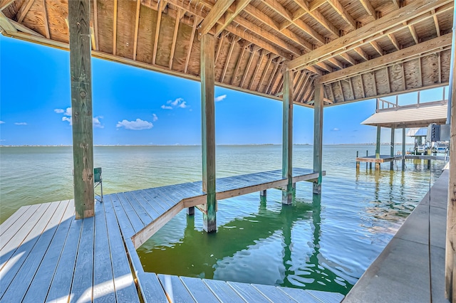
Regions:
[[382, 18], [378, 18], [377, 20], [366, 24], [366, 26], [347, 33], [346, 36], [337, 38], [316, 50], [312, 50], [309, 53], [301, 55], [299, 58], [291, 60], [287, 64], [287, 68], [293, 70], [302, 69], [308, 65], [313, 65], [320, 60], [327, 60], [328, 58], [345, 53], [347, 50], [369, 43], [369, 41], [372, 41], [372, 39], [370, 40], [369, 38], [373, 38], [373, 36], [378, 35], [378, 33], [382, 33], [398, 25], [400, 28], [403, 28], [403, 22], [425, 14], [432, 9], [437, 9], [445, 4], [450, 5], [451, 2], [451, 0], [436, 0], [431, 2], [417, 0], [402, 9], [393, 11]]

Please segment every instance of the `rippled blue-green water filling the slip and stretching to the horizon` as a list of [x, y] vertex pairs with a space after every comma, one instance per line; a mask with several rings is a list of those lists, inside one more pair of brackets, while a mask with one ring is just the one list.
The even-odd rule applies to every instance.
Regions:
[[[401, 148], [396, 147], [397, 150]], [[356, 171], [356, 151], [372, 145], [323, 145], [321, 196], [296, 186], [291, 206], [271, 189], [219, 201], [217, 233], [202, 215], [179, 213], [138, 249], [145, 271], [301, 287], [346, 294], [440, 175], [443, 162], [400, 162], [390, 171]], [[390, 147], [382, 146], [381, 154]], [[313, 147], [294, 146], [294, 166], [311, 168]], [[201, 147], [95, 147], [104, 193], [201, 179]], [[72, 198], [71, 147], [0, 148], [0, 223], [21, 206]], [[280, 145], [218, 146], [217, 177], [281, 168]]]

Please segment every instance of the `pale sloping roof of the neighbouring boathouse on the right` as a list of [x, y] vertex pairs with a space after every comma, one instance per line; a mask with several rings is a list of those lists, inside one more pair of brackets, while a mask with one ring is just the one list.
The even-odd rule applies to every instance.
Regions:
[[447, 103], [423, 107], [398, 108], [376, 112], [361, 124], [380, 127], [427, 127], [431, 123], [445, 124]]

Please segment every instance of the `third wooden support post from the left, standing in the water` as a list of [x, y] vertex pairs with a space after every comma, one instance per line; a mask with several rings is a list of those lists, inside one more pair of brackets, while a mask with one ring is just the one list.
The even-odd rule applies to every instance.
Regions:
[[288, 179], [282, 191], [282, 203], [293, 201], [293, 71], [284, 71], [284, 106], [282, 133], [282, 177]]

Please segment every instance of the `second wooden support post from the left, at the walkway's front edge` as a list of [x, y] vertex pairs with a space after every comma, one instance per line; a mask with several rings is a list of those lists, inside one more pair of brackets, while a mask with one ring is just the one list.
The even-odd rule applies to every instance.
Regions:
[[201, 38], [201, 110], [202, 110], [202, 191], [207, 193], [207, 212], [203, 228], [217, 230], [215, 196], [215, 104], [214, 104], [214, 36]]

